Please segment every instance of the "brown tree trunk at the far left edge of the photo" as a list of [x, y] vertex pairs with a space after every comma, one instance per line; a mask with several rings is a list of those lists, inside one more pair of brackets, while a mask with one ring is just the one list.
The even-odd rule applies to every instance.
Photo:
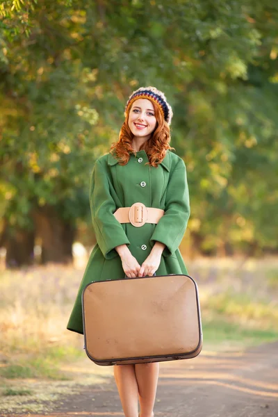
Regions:
[[10, 227], [5, 222], [1, 245], [6, 248], [6, 268], [19, 268], [31, 265], [34, 261], [34, 231]]

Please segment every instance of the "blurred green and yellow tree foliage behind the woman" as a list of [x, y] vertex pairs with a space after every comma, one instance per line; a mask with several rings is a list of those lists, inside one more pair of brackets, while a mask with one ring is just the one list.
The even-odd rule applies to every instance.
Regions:
[[[88, 217], [88, 181], [140, 85], [172, 104], [202, 252], [277, 250], [277, 17], [269, 0], [5, 1], [0, 212]], [[222, 253], [222, 252], [221, 252]]]

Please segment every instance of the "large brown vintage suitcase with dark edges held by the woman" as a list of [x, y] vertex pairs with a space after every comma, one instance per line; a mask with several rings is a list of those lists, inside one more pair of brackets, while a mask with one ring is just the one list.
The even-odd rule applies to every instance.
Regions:
[[202, 350], [198, 289], [188, 275], [92, 282], [82, 312], [85, 352], [98, 365], [189, 359]]

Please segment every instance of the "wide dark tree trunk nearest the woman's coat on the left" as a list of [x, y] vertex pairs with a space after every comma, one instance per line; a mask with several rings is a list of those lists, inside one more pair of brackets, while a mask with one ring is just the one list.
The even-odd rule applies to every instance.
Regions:
[[54, 206], [37, 208], [34, 219], [37, 236], [42, 241], [41, 262], [72, 263], [74, 225], [61, 218]]

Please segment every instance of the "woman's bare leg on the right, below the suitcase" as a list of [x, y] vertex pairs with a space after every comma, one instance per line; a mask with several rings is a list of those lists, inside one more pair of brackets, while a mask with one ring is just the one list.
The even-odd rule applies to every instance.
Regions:
[[138, 382], [140, 417], [152, 417], [154, 416], [159, 363], [136, 363], [135, 373]]

